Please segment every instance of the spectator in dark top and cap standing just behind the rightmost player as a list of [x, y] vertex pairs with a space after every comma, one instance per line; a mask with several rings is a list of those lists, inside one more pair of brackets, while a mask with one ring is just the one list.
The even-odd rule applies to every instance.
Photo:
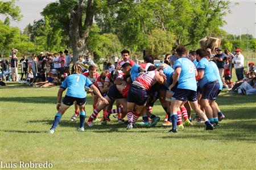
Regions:
[[225, 80], [224, 80], [224, 57], [225, 57], [225, 53], [222, 53], [222, 49], [221, 48], [217, 48], [216, 49], [216, 55], [213, 57], [213, 61], [216, 62], [216, 65], [218, 67], [218, 72], [220, 73], [220, 77], [221, 77], [221, 81], [223, 84], [223, 88], [227, 88], [228, 86], [225, 84]]

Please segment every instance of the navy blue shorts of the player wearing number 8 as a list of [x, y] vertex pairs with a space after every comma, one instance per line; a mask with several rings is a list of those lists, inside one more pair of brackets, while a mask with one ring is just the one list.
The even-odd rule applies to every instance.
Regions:
[[172, 99], [177, 99], [179, 101], [195, 102], [197, 101], [197, 93], [193, 90], [177, 88], [172, 95]]

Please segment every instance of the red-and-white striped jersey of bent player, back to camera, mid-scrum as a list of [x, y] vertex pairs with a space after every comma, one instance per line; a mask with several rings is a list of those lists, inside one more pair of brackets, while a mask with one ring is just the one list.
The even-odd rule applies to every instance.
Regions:
[[142, 74], [141, 76], [137, 77], [134, 82], [141, 84], [144, 86], [146, 90], [150, 90], [151, 86], [156, 83], [155, 74], [158, 71], [150, 71]]

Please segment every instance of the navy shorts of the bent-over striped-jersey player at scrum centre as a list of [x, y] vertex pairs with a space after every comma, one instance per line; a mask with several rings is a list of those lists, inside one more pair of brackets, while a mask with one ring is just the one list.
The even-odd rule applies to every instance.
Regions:
[[131, 85], [127, 102], [135, 103], [136, 105], [142, 106], [147, 102], [147, 91], [139, 86]]

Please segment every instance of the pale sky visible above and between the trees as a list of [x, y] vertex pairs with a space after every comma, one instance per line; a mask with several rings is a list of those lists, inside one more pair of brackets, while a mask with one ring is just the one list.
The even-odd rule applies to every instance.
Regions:
[[[7, 1], [7, 0], [3, 0]], [[183, 0], [187, 1], [187, 0]], [[18, 27], [21, 30], [34, 20], [42, 18], [40, 12], [46, 7], [48, 3], [56, 2], [55, 0], [19, 0], [15, 4], [19, 6], [23, 18], [20, 22], [11, 21], [11, 26]], [[240, 0], [231, 1], [230, 10], [232, 13], [224, 17], [226, 25], [222, 27], [223, 30], [229, 34], [246, 34], [253, 35], [256, 38], [256, 0]], [[234, 5], [234, 3], [239, 3]], [[5, 16], [0, 16], [1, 20]]]

